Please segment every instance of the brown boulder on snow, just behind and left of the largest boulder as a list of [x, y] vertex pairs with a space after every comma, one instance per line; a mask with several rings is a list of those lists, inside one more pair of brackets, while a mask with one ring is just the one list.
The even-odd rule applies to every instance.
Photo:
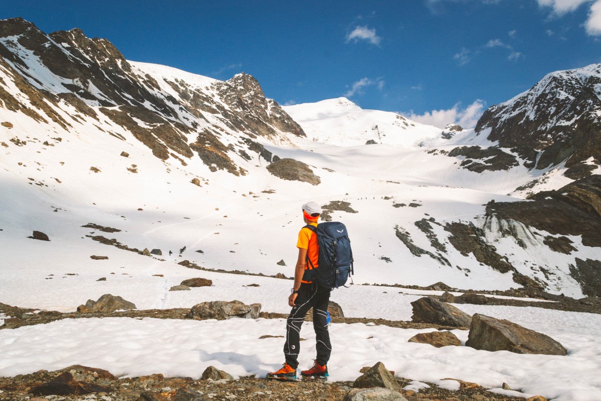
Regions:
[[429, 296], [419, 298], [417, 301], [411, 302], [411, 305], [413, 307], [411, 320], [416, 323], [468, 327], [472, 320], [469, 314], [462, 310]]

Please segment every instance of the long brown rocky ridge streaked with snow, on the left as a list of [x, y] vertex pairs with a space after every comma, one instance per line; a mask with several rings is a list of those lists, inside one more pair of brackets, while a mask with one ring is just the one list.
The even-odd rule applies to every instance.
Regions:
[[197, 153], [212, 170], [240, 174], [234, 159], [271, 161], [255, 139], [305, 136], [250, 75], [194, 85], [148, 73], [144, 63], [129, 63], [108, 40], [78, 28], [47, 35], [21, 18], [2, 20], [0, 56], [0, 100], [9, 110], [67, 131], [85, 121], [129, 140], [111, 127], [117, 125], [162, 160]]

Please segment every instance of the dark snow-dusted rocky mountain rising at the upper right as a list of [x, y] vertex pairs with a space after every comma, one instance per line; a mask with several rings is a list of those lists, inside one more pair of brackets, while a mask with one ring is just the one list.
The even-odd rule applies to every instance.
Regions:
[[488, 108], [475, 130], [499, 147], [542, 150], [536, 168], [563, 161], [572, 167], [591, 157], [599, 164], [600, 83], [601, 64], [548, 74], [530, 90]]

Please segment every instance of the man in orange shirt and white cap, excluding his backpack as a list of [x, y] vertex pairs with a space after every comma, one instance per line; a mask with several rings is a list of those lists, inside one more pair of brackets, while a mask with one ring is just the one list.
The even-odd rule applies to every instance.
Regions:
[[[317, 227], [317, 220], [322, 208], [314, 201], [302, 206], [305, 224]], [[313, 328], [317, 340], [317, 357], [313, 367], [303, 370], [302, 376], [325, 378], [328, 376], [326, 364], [332, 352], [330, 334], [328, 332], [327, 311], [331, 289], [323, 288], [312, 281], [303, 280], [306, 270], [316, 269], [319, 259], [319, 243], [317, 234], [310, 228], [303, 227], [296, 243], [299, 249], [296, 269], [294, 270], [294, 286], [288, 296], [288, 305], [292, 307], [286, 320], [286, 342], [284, 343], [284, 366], [277, 372], [267, 373], [267, 379], [296, 380], [298, 356], [301, 350], [300, 334], [305, 315], [313, 308]]]

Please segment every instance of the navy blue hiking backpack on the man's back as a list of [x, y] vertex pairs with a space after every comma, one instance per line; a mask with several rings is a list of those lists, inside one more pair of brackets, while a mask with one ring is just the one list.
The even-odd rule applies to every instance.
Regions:
[[[307, 263], [311, 269], [305, 270], [303, 280], [315, 281], [318, 286], [325, 288], [350, 287], [345, 286], [346, 281], [353, 271], [353, 251], [350, 249], [349, 233], [341, 222], [329, 221], [317, 224], [305, 225], [317, 234], [319, 243], [319, 266], [317, 269], [309, 259]], [[350, 279], [353, 285], [353, 279]]]

